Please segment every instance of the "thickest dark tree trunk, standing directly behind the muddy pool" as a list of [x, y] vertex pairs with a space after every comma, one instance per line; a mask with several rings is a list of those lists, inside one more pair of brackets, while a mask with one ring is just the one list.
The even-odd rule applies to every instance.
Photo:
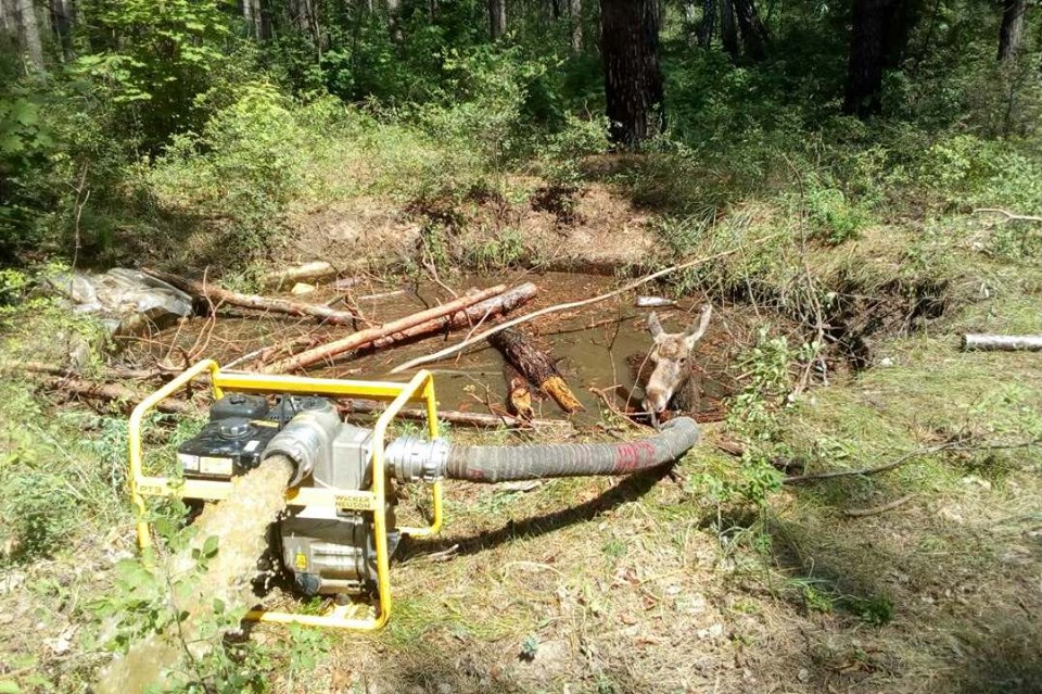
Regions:
[[600, 52], [613, 141], [647, 139], [661, 117], [656, 0], [600, 0]]

